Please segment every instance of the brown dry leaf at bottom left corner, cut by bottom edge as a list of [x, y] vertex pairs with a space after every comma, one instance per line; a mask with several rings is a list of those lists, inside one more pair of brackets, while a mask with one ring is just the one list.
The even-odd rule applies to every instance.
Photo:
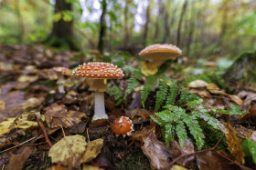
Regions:
[[21, 170], [33, 151], [33, 146], [24, 146], [20, 154], [12, 155], [7, 165], [7, 170]]

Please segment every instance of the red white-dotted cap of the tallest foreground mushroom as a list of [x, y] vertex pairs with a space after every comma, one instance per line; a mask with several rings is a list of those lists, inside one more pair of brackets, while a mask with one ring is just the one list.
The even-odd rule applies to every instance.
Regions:
[[95, 62], [78, 66], [73, 71], [73, 75], [94, 79], [118, 79], [123, 77], [123, 71], [116, 65]]

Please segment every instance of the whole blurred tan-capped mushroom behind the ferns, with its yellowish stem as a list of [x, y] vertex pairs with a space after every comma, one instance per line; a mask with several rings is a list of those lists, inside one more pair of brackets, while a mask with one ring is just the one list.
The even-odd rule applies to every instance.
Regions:
[[158, 70], [157, 66], [162, 65], [163, 60], [176, 58], [181, 53], [182, 51], [176, 45], [149, 45], [139, 53], [141, 58], [150, 61], [144, 63], [142, 72], [144, 75], [155, 75]]

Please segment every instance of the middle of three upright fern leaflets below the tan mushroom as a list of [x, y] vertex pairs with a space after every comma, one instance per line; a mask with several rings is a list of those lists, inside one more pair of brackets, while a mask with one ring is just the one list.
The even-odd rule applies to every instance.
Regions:
[[159, 110], [159, 108], [163, 105], [166, 95], [168, 93], [168, 85], [165, 79], [160, 80], [159, 90], [155, 95], [155, 112]]

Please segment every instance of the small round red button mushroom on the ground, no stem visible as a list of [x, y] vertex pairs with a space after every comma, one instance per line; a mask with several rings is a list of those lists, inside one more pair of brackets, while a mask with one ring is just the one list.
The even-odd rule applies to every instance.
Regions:
[[121, 116], [114, 120], [112, 124], [112, 132], [116, 135], [132, 135], [133, 122], [129, 117]]

